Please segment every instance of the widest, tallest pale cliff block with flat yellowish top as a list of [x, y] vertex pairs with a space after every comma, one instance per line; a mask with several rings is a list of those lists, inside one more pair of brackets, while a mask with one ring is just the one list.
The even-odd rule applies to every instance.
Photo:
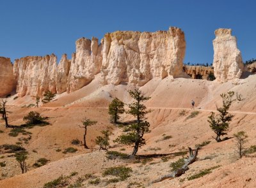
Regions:
[[116, 31], [102, 41], [102, 83], [144, 85], [152, 78], [184, 76], [184, 33], [177, 27], [155, 33]]

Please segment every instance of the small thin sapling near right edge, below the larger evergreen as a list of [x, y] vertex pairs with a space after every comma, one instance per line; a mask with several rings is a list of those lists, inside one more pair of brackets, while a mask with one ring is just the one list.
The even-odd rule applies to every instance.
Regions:
[[239, 157], [242, 158], [246, 152], [244, 144], [248, 141], [248, 136], [244, 131], [239, 131], [238, 133], [234, 134], [234, 136], [236, 138], [236, 152], [239, 155]]

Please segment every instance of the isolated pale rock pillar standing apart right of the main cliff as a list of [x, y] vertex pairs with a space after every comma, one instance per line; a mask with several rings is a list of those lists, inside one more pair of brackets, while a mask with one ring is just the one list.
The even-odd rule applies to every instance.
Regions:
[[240, 78], [243, 73], [243, 60], [237, 48], [236, 37], [231, 35], [231, 29], [217, 29], [213, 40], [214, 76], [218, 82], [227, 82]]

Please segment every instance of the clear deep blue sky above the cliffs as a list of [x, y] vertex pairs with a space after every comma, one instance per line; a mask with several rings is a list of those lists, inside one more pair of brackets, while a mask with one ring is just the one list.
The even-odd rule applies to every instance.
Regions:
[[180, 27], [186, 37], [184, 62], [213, 60], [212, 40], [220, 27], [232, 29], [243, 61], [256, 58], [256, 1], [236, 0], [0, 0], [0, 56], [76, 51], [78, 38], [101, 39], [116, 30], [158, 31]]

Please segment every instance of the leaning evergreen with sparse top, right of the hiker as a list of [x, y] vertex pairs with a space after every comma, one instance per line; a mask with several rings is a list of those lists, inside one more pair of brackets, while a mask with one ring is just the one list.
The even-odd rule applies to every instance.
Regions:
[[221, 94], [222, 98], [222, 107], [218, 108], [217, 111], [219, 112], [218, 115], [215, 115], [214, 112], [211, 112], [211, 115], [208, 117], [210, 127], [214, 133], [216, 133], [215, 140], [220, 142], [220, 136], [223, 136], [227, 134], [229, 122], [232, 120], [234, 115], [231, 115], [228, 113], [228, 110], [230, 106], [232, 105], [232, 102], [236, 101], [236, 99], [233, 99], [234, 91], [227, 92], [227, 94]]

